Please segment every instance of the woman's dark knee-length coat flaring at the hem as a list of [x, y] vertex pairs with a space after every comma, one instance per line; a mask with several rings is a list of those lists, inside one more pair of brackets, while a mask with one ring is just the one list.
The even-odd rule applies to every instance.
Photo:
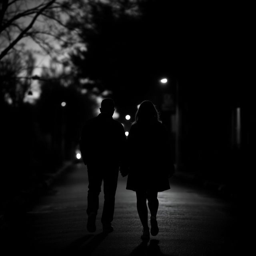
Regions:
[[158, 121], [132, 125], [127, 138], [128, 167], [126, 189], [170, 189], [168, 177], [174, 172], [167, 130]]

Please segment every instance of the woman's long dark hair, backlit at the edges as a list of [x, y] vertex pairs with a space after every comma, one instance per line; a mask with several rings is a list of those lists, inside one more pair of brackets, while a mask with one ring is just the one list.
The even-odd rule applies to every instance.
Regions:
[[140, 103], [140, 106], [135, 114], [134, 123], [148, 121], [156, 121], [162, 123], [156, 106], [150, 100], [144, 100]]

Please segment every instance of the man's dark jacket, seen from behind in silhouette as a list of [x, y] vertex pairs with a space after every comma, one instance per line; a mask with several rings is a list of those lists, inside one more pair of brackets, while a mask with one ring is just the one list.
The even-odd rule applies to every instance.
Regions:
[[122, 124], [100, 113], [82, 129], [80, 151], [84, 164], [119, 165], [124, 159], [126, 136]]

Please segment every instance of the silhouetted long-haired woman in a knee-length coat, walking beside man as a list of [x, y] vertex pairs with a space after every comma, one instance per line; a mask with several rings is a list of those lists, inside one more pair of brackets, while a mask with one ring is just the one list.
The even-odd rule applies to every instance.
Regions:
[[[127, 138], [126, 189], [136, 192], [138, 215], [143, 226], [141, 238], [149, 240], [150, 233], [152, 236], [158, 234], [157, 196], [158, 192], [170, 189], [168, 178], [174, 173], [174, 165], [167, 130], [151, 101], [145, 100], [140, 104], [135, 120]], [[146, 200], [151, 214], [150, 233]]]

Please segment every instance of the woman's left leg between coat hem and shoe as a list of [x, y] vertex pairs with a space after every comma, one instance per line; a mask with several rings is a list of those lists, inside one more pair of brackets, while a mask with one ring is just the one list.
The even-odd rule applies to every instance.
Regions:
[[136, 191], [137, 210], [144, 229], [148, 229], [147, 194], [144, 191]]

